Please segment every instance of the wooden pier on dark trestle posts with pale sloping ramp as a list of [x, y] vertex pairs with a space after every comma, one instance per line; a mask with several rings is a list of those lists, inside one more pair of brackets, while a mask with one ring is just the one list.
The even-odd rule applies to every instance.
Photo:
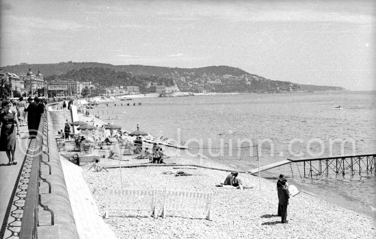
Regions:
[[[345, 173], [373, 173], [376, 176], [376, 154], [365, 155], [348, 155], [331, 158], [310, 158], [301, 160], [283, 160], [267, 166], [260, 167], [260, 171], [266, 171], [271, 168], [276, 168], [285, 164], [298, 163], [303, 164], [304, 177], [312, 177], [312, 175], [329, 175], [329, 173], [336, 173], [336, 175]], [[299, 166], [298, 166], [299, 169]], [[248, 173], [258, 173], [258, 168], [254, 168]], [[300, 171], [299, 171], [300, 173]]]

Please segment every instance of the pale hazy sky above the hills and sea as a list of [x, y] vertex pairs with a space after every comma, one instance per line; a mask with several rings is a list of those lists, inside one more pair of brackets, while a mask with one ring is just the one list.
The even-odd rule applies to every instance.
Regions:
[[226, 65], [273, 80], [376, 90], [373, 0], [0, 3], [0, 66]]

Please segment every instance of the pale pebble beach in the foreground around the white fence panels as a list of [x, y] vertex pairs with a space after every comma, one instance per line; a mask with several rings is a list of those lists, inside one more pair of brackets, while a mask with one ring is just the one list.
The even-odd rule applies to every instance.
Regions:
[[[81, 119], [90, 121], [92, 118], [94, 117]], [[94, 118], [94, 123], [105, 122]], [[135, 155], [123, 155], [123, 159], [130, 160], [129, 163], [134, 157]], [[105, 166], [119, 164], [118, 160], [103, 159], [101, 162]], [[167, 161], [169, 162], [234, 170], [214, 160], [188, 158], [186, 155], [176, 155]], [[121, 163], [126, 166], [126, 163]], [[85, 165], [83, 169], [88, 167]], [[376, 233], [375, 219], [371, 216], [348, 210], [307, 193], [300, 193], [291, 199], [288, 206], [290, 222], [288, 225], [283, 225], [280, 223], [280, 217], [273, 216], [278, 205], [275, 181], [261, 178], [261, 190], [259, 190], [258, 177], [242, 173], [239, 177], [243, 179], [244, 184], [253, 188], [241, 191], [215, 187], [228, 174], [224, 171], [197, 168], [181, 169], [192, 174], [189, 177], [163, 174], [177, 170], [174, 166], [122, 168], [122, 182], [126, 188], [164, 190], [165, 186], [169, 185], [175, 190], [213, 192], [213, 221], [202, 220], [202, 216], [189, 213], [178, 213], [175, 216], [156, 220], [148, 214], [126, 212], [124, 216], [110, 216], [105, 220], [116, 236], [119, 238], [285, 238], [287, 235], [293, 235], [297, 238], [373, 238]], [[95, 191], [93, 196], [98, 210], [104, 213], [104, 198], [100, 195], [109, 188], [121, 188], [120, 169], [109, 168], [109, 173], [83, 170], [83, 177], [90, 190]], [[161, 211], [157, 213], [160, 214]], [[191, 228], [195, 230], [192, 231]], [[284, 231], [283, 234], [281, 230]]]

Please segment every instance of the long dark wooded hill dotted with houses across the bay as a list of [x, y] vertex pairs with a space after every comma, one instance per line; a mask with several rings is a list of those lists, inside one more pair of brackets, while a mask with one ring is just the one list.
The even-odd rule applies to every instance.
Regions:
[[96, 62], [59, 62], [55, 64], [23, 64], [4, 66], [3, 71], [23, 75], [31, 68], [40, 71], [47, 81], [76, 79], [92, 81], [100, 86], [139, 86], [146, 90], [148, 81], [165, 86], [176, 84], [182, 91], [193, 92], [296, 92], [345, 90], [334, 86], [299, 85], [289, 81], [273, 81], [231, 66], [202, 68], [170, 68], [162, 66], [114, 66]]

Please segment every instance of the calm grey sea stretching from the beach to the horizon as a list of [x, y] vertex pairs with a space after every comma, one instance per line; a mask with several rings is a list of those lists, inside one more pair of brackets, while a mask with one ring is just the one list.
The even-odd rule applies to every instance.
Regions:
[[[109, 123], [126, 131], [138, 125], [152, 136], [174, 139], [190, 147], [190, 153], [234, 171], [286, 159], [376, 153], [376, 92], [371, 91], [139, 98], [98, 105], [90, 112], [104, 120], [111, 117]], [[308, 172], [306, 166], [304, 177], [303, 164], [294, 163], [260, 176], [276, 181], [284, 174], [301, 192], [376, 218], [375, 168], [345, 175], [331, 169], [321, 175]]]

